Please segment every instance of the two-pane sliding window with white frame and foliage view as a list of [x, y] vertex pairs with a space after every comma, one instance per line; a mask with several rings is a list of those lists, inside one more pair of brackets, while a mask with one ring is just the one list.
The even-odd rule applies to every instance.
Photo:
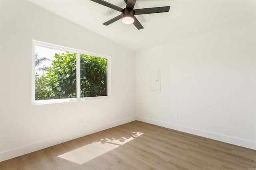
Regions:
[[110, 95], [110, 57], [33, 40], [32, 103]]

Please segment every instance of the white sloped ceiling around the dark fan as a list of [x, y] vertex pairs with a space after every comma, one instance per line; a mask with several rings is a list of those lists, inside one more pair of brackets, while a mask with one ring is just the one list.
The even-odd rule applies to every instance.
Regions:
[[137, 30], [121, 20], [102, 25], [120, 12], [90, 0], [28, 1], [134, 51], [256, 19], [256, 0], [137, 0], [134, 9], [171, 6], [170, 12], [136, 16], [144, 27]]

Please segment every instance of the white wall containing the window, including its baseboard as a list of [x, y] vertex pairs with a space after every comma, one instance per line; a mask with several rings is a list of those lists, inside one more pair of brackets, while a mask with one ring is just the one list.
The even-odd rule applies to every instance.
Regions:
[[[0, 3], [0, 161], [135, 120], [133, 51], [29, 2]], [[31, 105], [32, 39], [110, 56], [111, 97]]]

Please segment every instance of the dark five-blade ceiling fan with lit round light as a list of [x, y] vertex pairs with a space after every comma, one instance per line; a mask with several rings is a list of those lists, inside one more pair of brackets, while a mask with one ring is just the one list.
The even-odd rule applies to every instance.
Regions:
[[102, 4], [104, 6], [107, 6], [108, 8], [112, 8], [114, 10], [121, 12], [119, 16], [116, 16], [115, 18], [112, 18], [111, 20], [104, 22], [103, 25], [108, 26], [109, 24], [112, 24], [113, 22], [116, 22], [117, 20], [122, 19], [122, 22], [124, 24], [134, 24], [134, 26], [136, 26], [138, 30], [142, 29], [143, 26], [137, 20], [135, 15], [169, 12], [170, 10], [170, 6], [142, 8], [142, 9], [134, 10], [133, 8], [135, 6], [136, 0], [124, 0], [124, 2], [126, 3], [126, 8], [124, 9], [118, 6], [115, 6], [113, 4], [110, 4], [104, 0], [91, 0], [91, 1], [96, 2], [98, 4]]

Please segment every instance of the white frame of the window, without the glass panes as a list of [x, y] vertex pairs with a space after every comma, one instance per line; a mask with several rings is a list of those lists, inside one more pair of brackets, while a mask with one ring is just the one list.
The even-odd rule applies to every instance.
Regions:
[[[50, 49], [56, 49], [60, 51], [69, 51], [76, 53], [76, 98], [67, 98], [67, 99], [49, 99], [49, 100], [36, 100], [36, 85], [35, 85], [35, 54], [36, 46], [46, 47]], [[80, 54], [91, 55], [94, 57], [100, 57], [107, 59], [107, 96], [96, 96], [96, 97], [80, 97]], [[79, 49], [73, 49], [69, 47], [64, 47], [60, 45], [55, 45], [46, 42], [40, 42], [37, 40], [32, 40], [32, 105], [40, 104], [50, 104], [50, 103], [63, 103], [70, 101], [86, 101], [90, 99], [106, 99], [110, 98], [110, 57], [102, 54], [92, 53], [88, 51], [82, 51]]]

